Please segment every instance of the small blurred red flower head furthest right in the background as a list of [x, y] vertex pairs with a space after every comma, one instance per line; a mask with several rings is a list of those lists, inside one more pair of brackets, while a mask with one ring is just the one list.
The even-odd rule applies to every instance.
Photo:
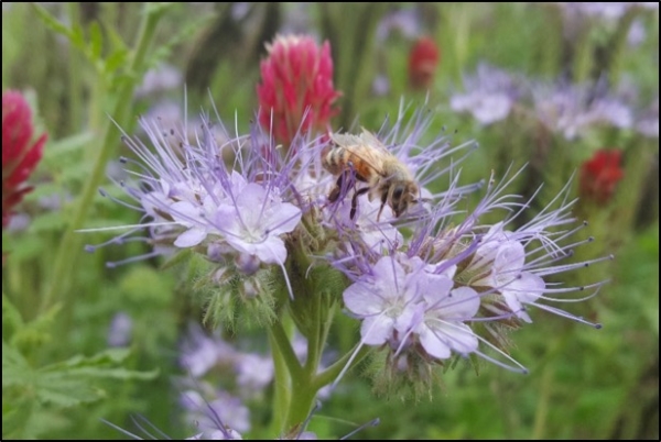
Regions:
[[599, 150], [581, 166], [581, 196], [600, 205], [610, 200], [617, 183], [624, 178], [621, 152]]

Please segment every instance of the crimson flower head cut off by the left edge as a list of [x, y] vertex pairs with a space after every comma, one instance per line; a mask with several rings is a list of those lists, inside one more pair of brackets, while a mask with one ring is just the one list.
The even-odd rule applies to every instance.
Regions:
[[12, 208], [32, 190], [24, 183], [42, 157], [46, 134], [32, 142], [32, 113], [20, 92], [2, 93], [2, 226]]

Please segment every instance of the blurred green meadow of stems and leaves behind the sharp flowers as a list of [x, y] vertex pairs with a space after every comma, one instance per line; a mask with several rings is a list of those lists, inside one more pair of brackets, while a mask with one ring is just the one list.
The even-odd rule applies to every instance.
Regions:
[[[335, 130], [376, 131], [397, 115], [400, 101], [425, 106], [436, 115], [430, 137], [445, 130], [455, 144], [480, 144], [463, 164], [466, 183], [491, 170], [498, 179], [510, 165], [528, 164], [511, 190], [531, 196], [544, 183], [539, 210], [598, 150], [617, 150], [624, 159], [613, 197], [584, 198], [576, 207], [596, 239], [581, 258], [615, 254], [575, 272], [571, 281], [610, 280], [596, 298], [568, 308], [603, 323], [602, 330], [535, 311], [534, 323], [512, 335], [513, 356], [529, 375], [488, 364], [476, 375], [466, 364], [438, 379], [431, 400], [416, 404], [375, 397], [358, 369], [323, 401], [311, 430], [336, 438], [379, 417], [379, 426], [354, 438], [658, 440], [657, 8], [3, 3], [2, 89], [21, 90], [36, 133], [48, 133], [30, 180], [35, 189], [3, 231], [3, 439], [118, 438], [100, 419], [136, 431], [136, 413], [172, 437], [193, 434], [173, 380], [186, 376], [177, 364], [181, 336], [201, 320], [184, 283], [191, 278], [163, 270], [155, 259], [108, 268], [149, 248], [129, 243], [85, 254], [84, 244], [111, 234], [74, 231], [139, 221], [96, 194], [100, 186], [110, 197], [122, 195], [108, 178], [121, 180], [116, 159], [128, 155], [118, 126], [132, 134], [139, 115], [174, 125], [217, 111], [245, 133], [256, 118], [264, 44], [277, 33], [306, 33], [330, 42], [335, 87], [343, 91]], [[430, 82], [414, 88], [409, 54], [421, 36], [435, 42], [440, 60]], [[534, 100], [520, 100], [507, 117], [485, 124], [451, 106], [453, 96], [473, 90], [467, 77], [480, 65], [509, 73], [531, 96], [557, 85], [590, 85], [585, 106], [617, 98], [632, 120], [566, 136], [546, 124]], [[638, 130], [650, 109], [655, 136]], [[572, 183], [577, 196], [578, 179]], [[132, 324], [126, 342], [109, 341], [118, 314]], [[343, 349], [357, 324], [338, 318], [332, 334], [332, 345]], [[274, 435], [264, 404], [253, 404], [252, 430], [243, 439]]]

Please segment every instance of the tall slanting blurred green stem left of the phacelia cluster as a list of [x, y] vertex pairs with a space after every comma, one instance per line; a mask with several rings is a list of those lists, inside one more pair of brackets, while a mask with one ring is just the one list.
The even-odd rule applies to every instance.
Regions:
[[[120, 86], [118, 91], [118, 100], [115, 109], [110, 112], [117, 124], [126, 125], [126, 122], [131, 111], [132, 96], [134, 85], [140, 80], [138, 73], [143, 70], [148, 49], [153, 41], [156, 24], [165, 8], [145, 5], [145, 13], [141, 23], [140, 32], [138, 34], [136, 53], [129, 66], [129, 71], [133, 74], [131, 81], [126, 81]], [[75, 212], [71, 218], [67, 230], [64, 233], [64, 237], [57, 248], [55, 257], [55, 268], [51, 275], [51, 287], [47, 289], [44, 298], [41, 302], [41, 311], [46, 311], [54, 302], [58, 301], [63, 297], [64, 291], [67, 287], [68, 280], [72, 273], [75, 269], [74, 263], [80, 253], [82, 239], [80, 235], [75, 231], [84, 225], [89, 209], [91, 208], [93, 200], [96, 196], [97, 189], [101, 179], [104, 178], [104, 170], [110, 155], [115, 152], [117, 144], [118, 133], [115, 123], [108, 121], [105, 126], [105, 133], [102, 136], [101, 147], [99, 148], [97, 156], [91, 167], [89, 178], [83, 188], [83, 194], [78, 199], [78, 205], [75, 208]]]

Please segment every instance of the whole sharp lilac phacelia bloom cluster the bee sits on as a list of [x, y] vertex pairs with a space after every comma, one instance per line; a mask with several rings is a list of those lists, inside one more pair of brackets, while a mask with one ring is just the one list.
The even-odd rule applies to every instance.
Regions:
[[[553, 303], [574, 300], [572, 292], [596, 292], [600, 284], [560, 288], [545, 278], [592, 264], [563, 263], [592, 240], [572, 240], [583, 224], [572, 226], [566, 195], [524, 222], [530, 201], [507, 195], [511, 179], [490, 180], [474, 211], [459, 210], [464, 196], [480, 186], [459, 186], [456, 163], [448, 158], [460, 159], [469, 145], [452, 146], [445, 136], [425, 143], [431, 122], [419, 111], [371, 135], [380, 145], [373, 148], [387, 150], [420, 186], [420, 198], [399, 217], [386, 197], [354, 198], [366, 184], [353, 165], [340, 198], [328, 201], [337, 179], [322, 164], [328, 141], [301, 139], [284, 153], [257, 128], [219, 146], [205, 125], [198, 145], [172, 152], [163, 140], [171, 132], [143, 121], [153, 151], [128, 141], [144, 166], [136, 173], [138, 185], [122, 185], [144, 216], [136, 229], [149, 229], [144, 240], [158, 244], [155, 251], [203, 254], [217, 264], [212, 279], [240, 275], [234, 280], [248, 298], [273, 289], [250, 278], [260, 269], [280, 267], [294, 301], [315, 296], [296, 287], [312, 284], [306, 275], [316, 267], [344, 273], [349, 284], [337, 292], [347, 313], [361, 321], [361, 345], [386, 349], [395, 372], [419, 374], [420, 364], [470, 354], [524, 371], [508, 355], [505, 330], [531, 322], [534, 309], [588, 323]], [[224, 148], [232, 150], [230, 165], [219, 159]], [[446, 190], [431, 192], [433, 181], [445, 181]], [[383, 195], [390, 191], [386, 187]], [[480, 223], [494, 213], [501, 213], [500, 222]]]

